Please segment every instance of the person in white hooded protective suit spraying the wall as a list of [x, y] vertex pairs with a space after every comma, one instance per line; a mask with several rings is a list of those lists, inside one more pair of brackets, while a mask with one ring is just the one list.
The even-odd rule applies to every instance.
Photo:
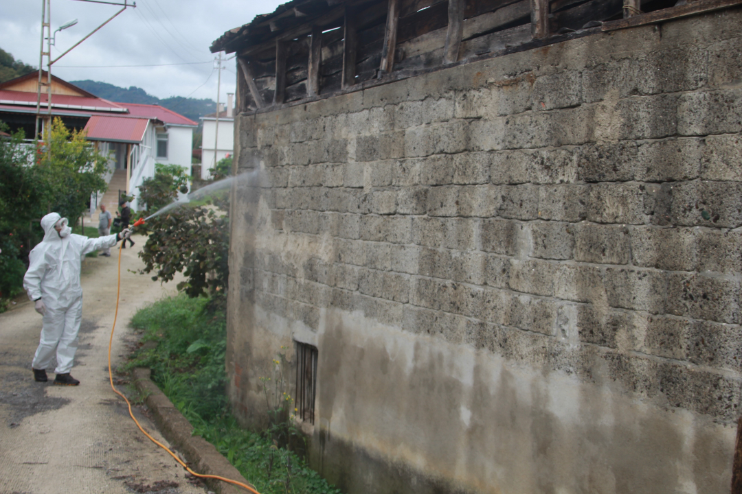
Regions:
[[42, 218], [44, 239], [33, 247], [30, 265], [23, 278], [28, 298], [36, 302], [36, 312], [43, 316], [42, 335], [33, 356], [33, 377], [46, 382], [46, 368], [56, 352], [54, 384], [76, 386], [80, 381], [70, 375], [77, 333], [82, 321], [80, 267], [85, 254], [113, 247], [131, 230], [99, 238], [72, 235], [67, 218], [49, 213]]

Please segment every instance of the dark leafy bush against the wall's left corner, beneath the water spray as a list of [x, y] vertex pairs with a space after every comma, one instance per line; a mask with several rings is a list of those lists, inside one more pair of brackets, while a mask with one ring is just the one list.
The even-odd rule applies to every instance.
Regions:
[[152, 279], [171, 281], [175, 273], [188, 279], [177, 289], [189, 297], [211, 296], [226, 301], [229, 281], [229, 204], [216, 207], [180, 207], [154, 216], [145, 226], [151, 231], [139, 257], [145, 262], [140, 273], [157, 274]]

